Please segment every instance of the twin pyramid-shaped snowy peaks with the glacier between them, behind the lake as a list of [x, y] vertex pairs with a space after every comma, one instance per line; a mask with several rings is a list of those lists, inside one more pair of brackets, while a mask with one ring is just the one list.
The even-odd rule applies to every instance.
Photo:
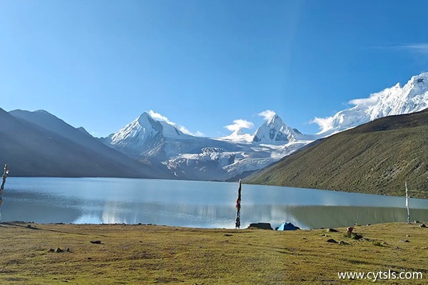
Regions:
[[186, 135], [144, 112], [101, 141], [143, 163], [164, 165], [180, 179], [228, 180], [290, 154], [307, 144], [303, 138], [277, 115], [254, 135], [235, 131], [225, 138], [204, 138]]

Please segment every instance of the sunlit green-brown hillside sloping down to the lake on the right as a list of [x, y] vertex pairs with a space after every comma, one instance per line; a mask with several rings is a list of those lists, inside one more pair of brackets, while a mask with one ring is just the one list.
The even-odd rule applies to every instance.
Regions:
[[332, 135], [246, 183], [428, 198], [428, 110], [374, 120]]

